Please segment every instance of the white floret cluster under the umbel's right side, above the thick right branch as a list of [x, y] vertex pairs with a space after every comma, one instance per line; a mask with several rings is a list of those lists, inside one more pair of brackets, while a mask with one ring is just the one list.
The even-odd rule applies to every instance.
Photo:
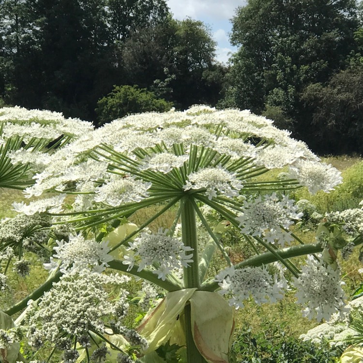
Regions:
[[241, 232], [252, 236], [263, 237], [267, 242], [276, 241], [284, 247], [291, 242], [291, 232], [287, 232], [294, 221], [303, 213], [294, 205], [294, 200], [287, 196], [280, 200], [275, 193], [271, 196], [251, 198], [244, 201], [244, 212], [236, 219], [240, 222]]

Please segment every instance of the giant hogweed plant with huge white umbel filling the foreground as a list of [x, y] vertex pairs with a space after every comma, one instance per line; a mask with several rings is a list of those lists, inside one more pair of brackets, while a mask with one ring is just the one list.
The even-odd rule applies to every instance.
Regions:
[[[360, 244], [361, 235], [345, 238], [344, 223], [324, 219], [317, 242], [303, 244], [290, 230], [302, 212], [288, 196], [302, 186], [330, 192], [342, 178], [272, 121], [207, 106], [131, 115], [97, 130], [76, 121], [75, 129], [84, 129], [77, 135], [67, 134], [72, 125], [59, 130], [61, 147], [49, 150], [42, 131], [49, 125], [57, 129], [58, 121], [34, 126], [13, 119], [1, 122], [2, 145], [14, 137], [23, 141], [2, 149], [1, 162], [15, 168], [14, 181], [4, 186], [20, 185], [21, 170], [31, 180], [24, 194], [36, 200], [14, 203], [15, 218], [29, 219], [34, 231], [43, 232], [43, 240], [32, 237], [32, 244], [44, 248], [49, 278], [2, 314], [9, 320], [25, 309], [15, 327], [2, 326], [4, 362], [18, 354], [18, 335], [25, 331], [31, 347], [49, 344], [50, 354], [63, 351], [64, 362], [165, 362], [160, 355], [167, 351], [166, 361], [176, 361], [170, 347], [180, 347], [181, 356], [186, 348], [181, 361], [227, 363], [233, 308], [248, 299], [275, 302], [290, 285], [305, 316], [321, 320], [344, 313], [336, 254]], [[259, 178], [275, 168], [288, 171], [279, 179]], [[141, 209], [158, 212], [139, 226], [130, 223]], [[175, 214], [174, 223], [151, 231], [166, 212]], [[0, 226], [5, 270], [31, 245], [20, 232], [15, 242], [2, 237], [12, 224], [4, 220]], [[221, 242], [230, 227], [240, 230], [256, 256], [231, 263]], [[216, 254], [225, 268], [211, 276]], [[307, 254], [299, 270], [291, 257]], [[20, 258], [14, 269], [24, 272], [24, 265]], [[290, 281], [285, 272], [293, 276]], [[123, 324], [131, 299], [126, 275], [165, 291], [136, 330]], [[5, 290], [5, 273], [1, 284]], [[148, 305], [153, 294], [143, 286]]]

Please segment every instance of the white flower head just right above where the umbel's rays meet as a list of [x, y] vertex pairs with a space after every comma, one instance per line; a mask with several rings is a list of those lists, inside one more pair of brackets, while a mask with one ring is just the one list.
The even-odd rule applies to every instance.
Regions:
[[222, 166], [206, 167], [189, 174], [184, 190], [207, 189], [208, 199], [216, 197], [217, 193], [227, 197], [237, 197], [243, 185], [235, 173], [229, 172]]

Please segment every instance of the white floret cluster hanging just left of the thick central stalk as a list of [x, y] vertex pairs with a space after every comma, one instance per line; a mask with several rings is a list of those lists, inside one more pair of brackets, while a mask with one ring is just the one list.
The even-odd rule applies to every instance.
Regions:
[[151, 267], [158, 278], [164, 281], [174, 269], [188, 267], [188, 263], [193, 262], [193, 254], [187, 253], [193, 249], [184, 246], [181, 239], [171, 237], [167, 233], [168, 230], [162, 228], [156, 234], [144, 230], [134, 242], [129, 242], [128, 250], [134, 253], [123, 256], [122, 263], [129, 265], [127, 270], [130, 271], [137, 261], [139, 262], [137, 271]]

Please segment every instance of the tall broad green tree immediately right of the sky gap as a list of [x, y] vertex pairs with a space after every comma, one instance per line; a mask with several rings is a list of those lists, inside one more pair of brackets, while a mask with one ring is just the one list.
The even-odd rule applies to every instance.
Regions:
[[249, 0], [232, 24], [231, 41], [240, 48], [221, 105], [257, 113], [277, 107], [302, 131], [301, 92], [328, 81], [356, 48], [355, 1]]

